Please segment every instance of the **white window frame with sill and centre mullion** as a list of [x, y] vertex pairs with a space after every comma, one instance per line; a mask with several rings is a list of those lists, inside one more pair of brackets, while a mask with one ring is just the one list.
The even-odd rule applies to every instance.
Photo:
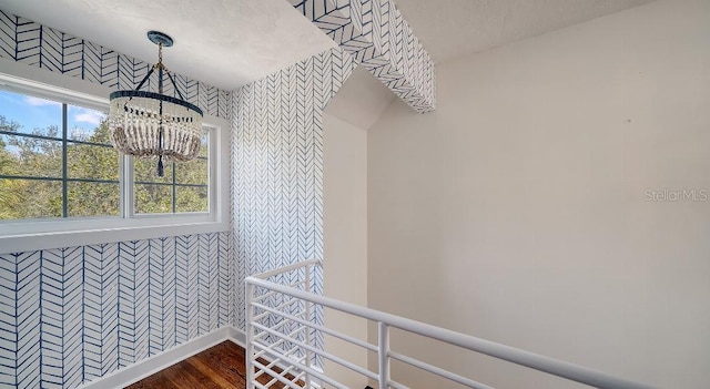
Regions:
[[[6, 70], [6, 64], [11, 69]], [[4, 60], [2, 65], [3, 89], [89, 109], [109, 106], [109, 88]], [[121, 198], [124, 216], [3, 221], [0, 222], [0, 254], [227, 231], [230, 124], [209, 114], [204, 115], [204, 124], [211, 129], [210, 212], [131, 214], [133, 196], [125, 188], [133, 187], [133, 163], [132, 157], [123, 155], [121, 166], [126, 172], [120, 172], [120, 181], [124, 187]]]

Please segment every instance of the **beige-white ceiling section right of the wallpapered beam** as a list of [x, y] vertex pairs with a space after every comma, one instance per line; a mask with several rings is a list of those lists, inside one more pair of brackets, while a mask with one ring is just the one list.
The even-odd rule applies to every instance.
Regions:
[[394, 0], [435, 63], [653, 0]]

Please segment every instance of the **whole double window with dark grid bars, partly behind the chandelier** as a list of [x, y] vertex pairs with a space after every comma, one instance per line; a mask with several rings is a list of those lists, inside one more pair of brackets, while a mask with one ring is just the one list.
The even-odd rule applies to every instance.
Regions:
[[0, 235], [3, 224], [213, 216], [215, 129], [205, 126], [197, 158], [159, 177], [156, 160], [113, 149], [106, 104], [12, 86], [0, 89]]

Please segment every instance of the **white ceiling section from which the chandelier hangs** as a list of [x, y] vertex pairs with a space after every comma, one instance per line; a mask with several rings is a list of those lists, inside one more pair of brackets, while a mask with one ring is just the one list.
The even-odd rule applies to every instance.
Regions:
[[224, 90], [264, 78], [335, 43], [286, 0], [0, 0], [0, 9], [149, 63], [159, 30], [176, 73]]

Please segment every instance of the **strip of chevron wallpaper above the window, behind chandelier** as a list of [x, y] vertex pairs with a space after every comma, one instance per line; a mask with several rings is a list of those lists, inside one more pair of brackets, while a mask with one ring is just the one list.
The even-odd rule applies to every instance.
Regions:
[[[111, 89], [133, 89], [152, 63], [118, 53], [88, 40], [36, 23], [0, 10], [0, 58], [91, 81]], [[187, 101], [214, 116], [230, 117], [230, 92], [180, 74], [175, 84]], [[166, 83], [164, 93], [175, 95]], [[158, 92], [158, 75], [145, 90]]]

